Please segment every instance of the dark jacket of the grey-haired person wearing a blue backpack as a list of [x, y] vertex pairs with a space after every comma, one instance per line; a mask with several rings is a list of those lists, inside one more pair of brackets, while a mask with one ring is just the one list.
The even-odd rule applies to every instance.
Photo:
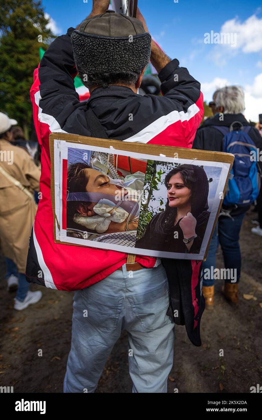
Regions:
[[[262, 149], [262, 138], [258, 130], [252, 126], [243, 114], [223, 114], [223, 121], [220, 121], [221, 114], [215, 114], [213, 117], [207, 118], [201, 127], [196, 131], [192, 149], [211, 150], [212, 152], [223, 152], [223, 134], [212, 126], [230, 127], [235, 121], [239, 121], [243, 126], [251, 126], [249, 136], [253, 140], [258, 149]], [[259, 162], [262, 169], [262, 162]], [[225, 210], [230, 210], [232, 216], [245, 213], [250, 206], [227, 207], [222, 205]]]

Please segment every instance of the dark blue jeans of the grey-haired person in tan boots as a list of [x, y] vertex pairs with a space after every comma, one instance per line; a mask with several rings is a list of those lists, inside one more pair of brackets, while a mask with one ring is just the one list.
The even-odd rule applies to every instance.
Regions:
[[[213, 286], [215, 280], [210, 278], [205, 278], [205, 269], [208, 269], [210, 273], [215, 270], [216, 266], [216, 249], [217, 249], [217, 235], [222, 248], [224, 264], [226, 269], [236, 269], [236, 281], [239, 282], [241, 274], [241, 251], [239, 245], [239, 233], [241, 230], [242, 222], [246, 213], [234, 216], [232, 220], [228, 216], [220, 216], [215, 228], [214, 234], [210, 242], [210, 248], [207, 254], [207, 260], [203, 261], [203, 286]], [[206, 271], [207, 273], [207, 271]], [[231, 278], [226, 278], [227, 283], [231, 283]]]

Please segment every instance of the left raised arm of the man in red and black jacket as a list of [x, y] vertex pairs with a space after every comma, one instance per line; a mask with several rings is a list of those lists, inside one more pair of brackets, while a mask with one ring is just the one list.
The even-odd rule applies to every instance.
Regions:
[[[89, 17], [104, 13], [108, 6], [109, 0], [94, 0]], [[82, 105], [73, 80], [77, 74], [71, 44], [74, 29], [69, 28], [65, 35], [52, 42], [34, 71], [34, 83], [30, 90], [38, 141], [44, 145], [48, 155], [49, 134], [54, 131], [65, 132], [65, 122], [68, 132], [87, 135], [84, 131], [84, 111], [81, 112]], [[77, 108], [79, 125], [76, 119], [72, 123], [70, 121], [70, 115]]]

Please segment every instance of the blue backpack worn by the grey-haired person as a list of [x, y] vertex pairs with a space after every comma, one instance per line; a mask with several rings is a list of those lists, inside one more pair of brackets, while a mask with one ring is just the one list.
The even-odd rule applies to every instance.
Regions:
[[[233, 129], [235, 124], [240, 129]], [[223, 138], [223, 152], [232, 153], [235, 160], [231, 169], [233, 178], [228, 180], [228, 193], [225, 194], [223, 204], [238, 206], [252, 204], [258, 196], [260, 189], [260, 173], [257, 165], [257, 147], [249, 136], [251, 126], [243, 126], [235, 121], [230, 128], [225, 126], [212, 126], [219, 130]], [[256, 161], [251, 160], [250, 152], [256, 154]]]

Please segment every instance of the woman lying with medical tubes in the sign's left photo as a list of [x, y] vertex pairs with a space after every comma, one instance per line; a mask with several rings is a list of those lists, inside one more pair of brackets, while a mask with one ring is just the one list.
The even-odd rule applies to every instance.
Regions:
[[67, 236], [134, 246], [139, 205], [121, 179], [77, 162], [68, 165], [67, 192]]

